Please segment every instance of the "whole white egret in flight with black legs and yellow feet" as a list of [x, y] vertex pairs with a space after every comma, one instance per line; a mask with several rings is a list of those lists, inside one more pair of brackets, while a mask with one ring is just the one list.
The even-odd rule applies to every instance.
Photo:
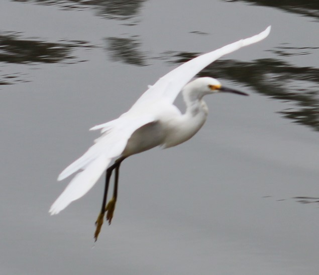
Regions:
[[[129, 111], [115, 120], [91, 128], [90, 130], [100, 129], [102, 135], [79, 159], [71, 163], [59, 175], [58, 180], [63, 180], [77, 172], [62, 194], [52, 204], [49, 210], [51, 215], [59, 213], [72, 201], [86, 194], [103, 171], [108, 168], [111, 161], [116, 158], [106, 173], [102, 208], [95, 223], [94, 237], [96, 241], [105, 211], [107, 211], [107, 220], [111, 224], [117, 200], [119, 169], [122, 161], [133, 154], [156, 146], [169, 148], [190, 139], [204, 124], [208, 114], [207, 106], [202, 100], [204, 95], [218, 92], [247, 95], [222, 87], [218, 80], [210, 77], [202, 77], [188, 82], [218, 58], [265, 39], [269, 35], [270, 29], [269, 26], [258, 35], [239, 40], [182, 64], [160, 78], [154, 85], [149, 86], [149, 89]], [[173, 105], [181, 91], [186, 104], [184, 114]], [[114, 193], [106, 205], [109, 182], [114, 169]]]

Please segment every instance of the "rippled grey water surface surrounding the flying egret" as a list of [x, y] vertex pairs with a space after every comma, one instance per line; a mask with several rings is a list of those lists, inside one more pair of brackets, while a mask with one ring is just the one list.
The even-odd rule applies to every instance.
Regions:
[[[302, 3], [3, 0], [0, 273], [316, 274], [319, 7]], [[268, 25], [266, 40], [199, 74], [251, 96], [206, 97], [191, 140], [126, 160], [93, 248], [103, 178], [48, 214], [91, 126], [181, 62]]]

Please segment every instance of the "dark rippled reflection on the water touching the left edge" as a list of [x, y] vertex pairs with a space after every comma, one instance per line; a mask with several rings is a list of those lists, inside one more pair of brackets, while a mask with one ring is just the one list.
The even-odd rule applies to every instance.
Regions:
[[17, 33], [0, 33], [0, 63], [2, 63], [0, 85], [26, 82], [23, 79], [26, 74], [17, 72], [11, 74], [3, 73], [6, 71], [6, 63], [78, 63], [84, 60], [77, 60], [76, 56], [72, 55], [72, 49], [79, 47], [90, 49], [94, 46], [85, 41], [62, 40], [59, 42], [47, 42], [39, 38], [22, 38]]

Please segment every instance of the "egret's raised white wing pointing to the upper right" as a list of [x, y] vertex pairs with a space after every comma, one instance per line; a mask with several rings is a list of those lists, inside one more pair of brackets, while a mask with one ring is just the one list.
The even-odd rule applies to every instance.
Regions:
[[271, 26], [258, 35], [239, 40], [182, 64], [161, 77], [153, 86], [150, 86], [131, 109], [135, 109], [146, 102], [153, 102], [159, 99], [166, 99], [168, 102], [173, 103], [181, 89], [202, 69], [226, 54], [265, 39], [269, 35], [270, 29]]

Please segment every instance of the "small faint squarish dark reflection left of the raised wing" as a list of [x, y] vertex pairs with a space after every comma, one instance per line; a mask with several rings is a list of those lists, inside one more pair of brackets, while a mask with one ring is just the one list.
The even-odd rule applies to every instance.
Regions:
[[109, 37], [107, 51], [113, 61], [122, 61], [126, 64], [146, 66], [145, 55], [139, 50], [140, 42], [133, 38]]

